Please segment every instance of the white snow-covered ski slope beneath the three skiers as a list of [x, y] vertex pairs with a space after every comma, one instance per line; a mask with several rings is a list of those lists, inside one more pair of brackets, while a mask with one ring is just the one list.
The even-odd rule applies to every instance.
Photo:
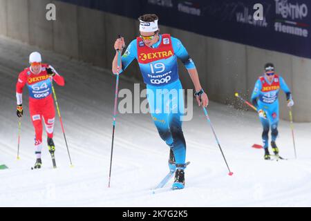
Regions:
[[[33, 46], [0, 37], [0, 206], [311, 206], [311, 124], [295, 124], [298, 159], [294, 159], [289, 122], [281, 121], [277, 140], [288, 161], [265, 161], [261, 124], [256, 113], [211, 102], [209, 115], [223, 147], [227, 167], [201, 108], [183, 124], [187, 141], [186, 188], [152, 194], [167, 174], [169, 148], [160, 140], [149, 115], [117, 115], [111, 188], [107, 188], [111, 153], [115, 77], [102, 70], [39, 50], [66, 79], [56, 86], [74, 168], [70, 168], [58, 117], [55, 126], [57, 169], [52, 168], [47, 146], [43, 168], [35, 163], [34, 130], [28, 113], [28, 92], [23, 95], [21, 160], [17, 160], [15, 84], [28, 65]], [[126, 73], [131, 75], [131, 73]], [[121, 88], [133, 89], [122, 76]], [[26, 89], [26, 88], [25, 88]], [[232, 95], [232, 99], [234, 96]], [[44, 134], [44, 143], [46, 134]]]

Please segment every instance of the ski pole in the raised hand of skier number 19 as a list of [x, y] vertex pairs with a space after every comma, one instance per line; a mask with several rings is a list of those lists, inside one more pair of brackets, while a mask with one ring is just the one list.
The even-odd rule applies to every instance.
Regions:
[[[119, 39], [121, 35], [119, 35]], [[119, 73], [120, 73], [120, 65], [121, 65], [121, 51], [117, 49], [117, 79], [115, 82], [115, 106], [113, 108], [113, 134], [112, 134], [112, 141], [111, 141], [111, 156], [110, 156], [110, 169], [109, 169], [109, 182], [108, 187], [110, 188], [110, 181], [111, 181], [111, 167], [112, 167], [112, 159], [113, 159], [113, 142], [115, 140], [115, 117], [117, 117], [117, 94], [119, 91]]]

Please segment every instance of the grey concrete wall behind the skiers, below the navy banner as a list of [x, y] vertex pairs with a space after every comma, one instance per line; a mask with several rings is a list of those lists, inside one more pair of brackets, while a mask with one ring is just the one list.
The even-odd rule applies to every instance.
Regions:
[[[55, 3], [57, 20], [47, 21], [46, 4]], [[202, 86], [209, 98], [223, 104], [236, 104], [234, 93], [249, 99], [255, 81], [270, 61], [292, 89], [294, 121], [311, 122], [311, 60], [281, 52], [245, 46], [205, 37], [193, 32], [161, 26], [162, 33], [178, 37], [196, 62]], [[0, 35], [54, 50], [68, 57], [111, 69], [118, 34], [126, 44], [138, 34], [138, 21], [108, 12], [48, 0], [0, 0]], [[142, 80], [133, 62], [124, 75]], [[193, 88], [180, 64], [180, 78], [185, 88]], [[281, 93], [281, 118], [288, 119], [285, 95]]]

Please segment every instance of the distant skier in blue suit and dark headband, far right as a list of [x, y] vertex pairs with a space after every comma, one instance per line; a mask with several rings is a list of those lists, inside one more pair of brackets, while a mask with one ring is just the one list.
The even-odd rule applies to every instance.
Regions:
[[276, 137], [279, 134], [279, 90], [282, 89], [288, 100], [288, 107], [294, 105], [290, 88], [288, 88], [283, 77], [276, 75], [274, 65], [265, 64], [265, 74], [256, 81], [252, 93], [252, 104], [257, 108], [259, 119], [263, 125], [263, 148], [265, 150], [265, 160], [270, 160], [269, 137], [268, 133], [271, 127], [272, 151], [279, 156], [279, 148], [276, 146]]

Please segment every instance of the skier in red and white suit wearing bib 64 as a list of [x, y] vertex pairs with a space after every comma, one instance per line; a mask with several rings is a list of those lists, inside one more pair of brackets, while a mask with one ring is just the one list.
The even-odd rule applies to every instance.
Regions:
[[30, 54], [29, 63], [30, 67], [19, 74], [16, 84], [17, 116], [22, 117], [23, 115], [22, 94], [23, 87], [27, 85], [30, 117], [35, 127], [35, 154], [37, 157], [35, 169], [39, 169], [41, 168], [42, 120], [44, 120], [46, 133], [48, 134], [49, 151], [55, 151], [53, 143], [55, 107], [52, 95], [52, 81], [54, 80], [59, 86], [64, 86], [65, 81], [52, 66], [41, 64], [39, 52]]

